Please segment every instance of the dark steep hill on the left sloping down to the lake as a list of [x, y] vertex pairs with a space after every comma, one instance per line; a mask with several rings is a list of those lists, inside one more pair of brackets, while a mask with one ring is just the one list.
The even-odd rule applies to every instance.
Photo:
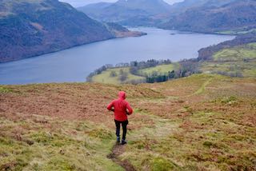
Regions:
[[0, 62], [33, 57], [122, 35], [139, 35], [124, 30], [122, 26], [97, 22], [69, 4], [57, 0], [2, 0], [0, 30]]

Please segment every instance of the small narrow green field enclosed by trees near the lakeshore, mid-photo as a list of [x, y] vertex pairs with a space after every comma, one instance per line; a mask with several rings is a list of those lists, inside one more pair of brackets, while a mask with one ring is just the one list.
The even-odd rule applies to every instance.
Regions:
[[153, 74], [163, 75], [163, 74], [168, 74], [169, 71], [177, 70], [178, 67], [179, 67], [178, 63], [160, 65], [160, 66], [138, 70], [138, 74], [142, 74], [146, 76], [153, 75]]

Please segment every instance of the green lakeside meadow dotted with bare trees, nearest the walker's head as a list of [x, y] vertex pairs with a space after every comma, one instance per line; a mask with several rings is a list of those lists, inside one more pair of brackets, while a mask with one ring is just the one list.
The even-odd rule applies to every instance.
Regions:
[[[108, 84], [121, 84], [123, 82], [120, 81], [120, 70], [123, 70], [123, 72], [126, 72], [128, 74], [128, 78], [125, 80], [125, 82], [132, 82], [132, 81], [138, 81], [138, 80], [145, 80], [143, 77], [139, 77], [134, 74], [130, 74], [130, 68], [114, 68], [114, 69], [108, 69], [106, 71], [103, 71], [102, 74], [95, 75], [92, 78], [92, 82], [101, 82], [101, 83], [108, 83]], [[115, 72], [117, 75], [114, 77], [111, 77], [111, 72]]]

